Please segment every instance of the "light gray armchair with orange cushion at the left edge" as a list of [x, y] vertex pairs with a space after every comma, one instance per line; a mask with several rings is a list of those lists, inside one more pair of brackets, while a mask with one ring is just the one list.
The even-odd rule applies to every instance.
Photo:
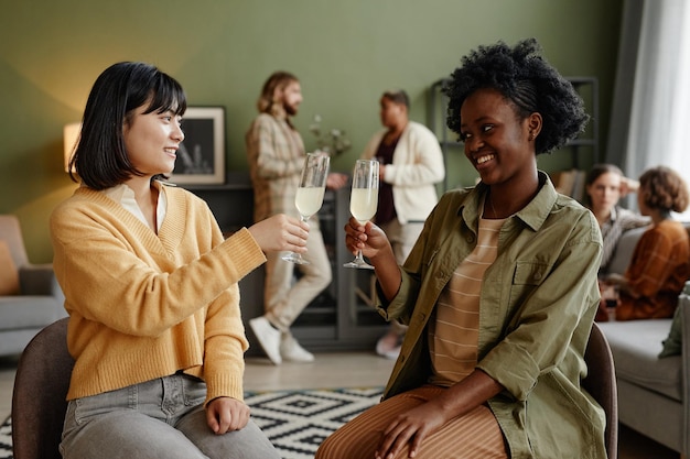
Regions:
[[15, 216], [0, 215], [0, 240], [19, 272], [19, 294], [0, 296], [0, 356], [11, 356], [21, 353], [42, 328], [67, 314], [52, 265], [29, 263]]

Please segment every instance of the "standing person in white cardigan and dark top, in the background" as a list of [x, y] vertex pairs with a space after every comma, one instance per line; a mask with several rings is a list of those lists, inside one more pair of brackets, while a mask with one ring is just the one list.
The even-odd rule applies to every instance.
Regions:
[[[388, 90], [380, 99], [384, 129], [374, 134], [362, 157], [379, 162], [378, 208], [374, 221], [386, 232], [396, 260], [405, 263], [424, 220], [436, 205], [435, 184], [445, 176], [439, 140], [425, 125], [409, 119], [410, 98]], [[391, 321], [376, 352], [397, 359], [407, 327]]]

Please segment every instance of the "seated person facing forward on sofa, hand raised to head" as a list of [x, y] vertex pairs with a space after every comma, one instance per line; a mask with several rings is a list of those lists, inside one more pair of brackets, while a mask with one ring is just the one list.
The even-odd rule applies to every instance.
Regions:
[[600, 275], [607, 272], [608, 264], [616, 250], [621, 236], [634, 228], [649, 225], [649, 217], [624, 209], [618, 205], [622, 197], [636, 193], [639, 182], [628, 178], [618, 166], [613, 164], [595, 164], [586, 175], [585, 205], [592, 210], [602, 231], [604, 248], [600, 263]]

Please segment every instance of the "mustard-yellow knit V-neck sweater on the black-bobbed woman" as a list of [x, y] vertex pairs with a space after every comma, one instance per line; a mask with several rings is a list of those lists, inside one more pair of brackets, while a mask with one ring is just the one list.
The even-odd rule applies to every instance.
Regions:
[[266, 258], [246, 229], [224, 240], [196, 196], [173, 187], [163, 193], [168, 209], [158, 234], [87, 187], [51, 216], [75, 359], [67, 400], [180, 370], [205, 380], [206, 403], [242, 400], [248, 345], [237, 282]]

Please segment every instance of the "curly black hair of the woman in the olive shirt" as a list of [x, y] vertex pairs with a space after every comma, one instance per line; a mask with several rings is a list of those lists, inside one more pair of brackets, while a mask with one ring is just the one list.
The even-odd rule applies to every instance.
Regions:
[[537, 40], [528, 39], [513, 48], [498, 42], [464, 56], [443, 87], [450, 99], [448, 127], [460, 134], [460, 109], [465, 99], [477, 89], [493, 88], [514, 102], [520, 119], [541, 114], [537, 154], [549, 153], [581, 133], [590, 119], [582, 98], [540, 52]]

